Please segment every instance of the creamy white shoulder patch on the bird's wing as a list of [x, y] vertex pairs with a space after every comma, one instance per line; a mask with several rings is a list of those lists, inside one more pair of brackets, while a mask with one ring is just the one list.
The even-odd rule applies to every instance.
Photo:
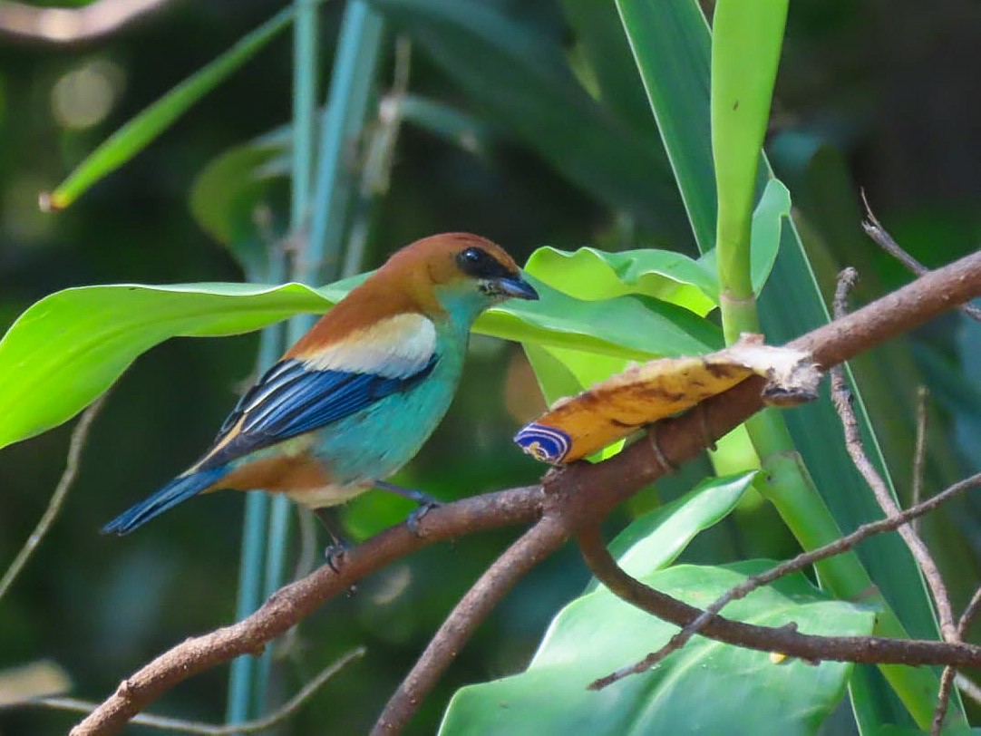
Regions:
[[346, 338], [304, 361], [318, 371], [374, 373], [407, 378], [429, 363], [436, 351], [436, 325], [421, 314], [396, 314]]

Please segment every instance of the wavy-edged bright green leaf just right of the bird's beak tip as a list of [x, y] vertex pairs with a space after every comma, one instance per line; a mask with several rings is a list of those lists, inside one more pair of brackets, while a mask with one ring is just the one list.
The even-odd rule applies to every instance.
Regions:
[[532, 253], [525, 270], [555, 289], [587, 300], [643, 293], [703, 316], [718, 297], [715, 275], [671, 250], [609, 253], [580, 248], [570, 253], [542, 247]]

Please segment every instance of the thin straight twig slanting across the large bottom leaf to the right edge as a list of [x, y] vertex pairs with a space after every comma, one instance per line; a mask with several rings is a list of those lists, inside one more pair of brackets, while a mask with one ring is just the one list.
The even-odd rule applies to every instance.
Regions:
[[[860, 527], [855, 529], [852, 534], [835, 540], [824, 547], [819, 547], [816, 550], [802, 552], [793, 559], [781, 562], [765, 572], [748, 577], [739, 585], [730, 588], [725, 592], [725, 594], [720, 596], [715, 602], [706, 607], [704, 610], [698, 611], [697, 616], [690, 622], [679, 624], [683, 626], [682, 630], [671, 637], [664, 647], [656, 652], [652, 652], [636, 664], [617, 670], [616, 676], [609, 675], [608, 677], [602, 678], [602, 680], [597, 680], [596, 683], [602, 683], [597, 687], [606, 687], [606, 685], [610, 685], [617, 680], [623, 679], [627, 675], [640, 674], [641, 672], [645, 672], [646, 670], [650, 669], [650, 667], [661, 661], [664, 657], [667, 657], [672, 652], [684, 647], [685, 644], [687, 644], [688, 641], [696, 634], [705, 633], [706, 626], [713, 620], [719, 620], [718, 614], [722, 612], [722, 609], [726, 605], [731, 604], [733, 601], [739, 601], [746, 598], [757, 588], [761, 588], [764, 585], [769, 585], [773, 581], [782, 578], [785, 575], [790, 575], [793, 572], [799, 572], [805, 567], [810, 567], [815, 562], [820, 562], [822, 559], [833, 557], [834, 555], [841, 554], [842, 552], [848, 552], [869, 537], [882, 534], [883, 532], [895, 531], [898, 527], [904, 525], [912, 519], [919, 518], [920, 516], [934, 510], [946, 501], [953, 499], [955, 496], [974, 488], [981, 488], [981, 473], [973, 475], [970, 478], [965, 478], [959, 483], [955, 483], [943, 493], [937, 494], [930, 499], [926, 499], [916, 506], [910, 506], [897, 516], [890, 516], [885, 519], [879, 519], [878, 521], [871, 521], [867, 524], [862, 524]], [[677, 623], [676, 621], [674, 622]], [[711, 636], [707, 633], [705, 633], [705, 635]], [[782, 652], [783, 650], [779, 651]]]

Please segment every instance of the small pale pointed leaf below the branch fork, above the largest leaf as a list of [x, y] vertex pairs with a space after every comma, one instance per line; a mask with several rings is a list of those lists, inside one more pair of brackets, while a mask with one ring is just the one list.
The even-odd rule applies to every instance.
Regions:
[[[708, 478], [680, 499], [638, 516], [610, 543], [610, 553], [633, 577], [667, 567], [698, 532], [722, 521], [749, 488], [757, 471]], [[586, 587], [600, 587], [595, 578]]]

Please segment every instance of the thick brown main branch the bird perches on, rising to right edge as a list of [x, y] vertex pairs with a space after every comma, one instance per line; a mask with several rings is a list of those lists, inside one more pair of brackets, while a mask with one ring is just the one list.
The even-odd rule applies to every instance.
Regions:
[[[979, 294], [981, 254], [973, 254], [930, 272], [789, 346], [810, 351], [820, 365], [835, 365]], [[694, 457], [711, 438], [721, 437], [745, 421], [762, 405], [762, 386], [762, 379], [750, 379], [709, 399], [701, 411], [661, 422], [658, 445], [665, 457], [672, 464], [680, 464]], [[575, 533], [596, 519], [605, 518], [613, 506], [656, 480], [661, 473], [649, 444], [635, 443], [605, 462], [576, 464], [552, 474], [543, 499], [539, 488], [516, 489], [442, 506], [423, 518], [425, 540], [414, 537], [404, 525], [388, 529], [346, 552], [340, 574], [321, 568], [280, 590], [241, 622], [189, 639], [157, 657], [129, 677], [74, 733], [81, 736], [117, 732], [132, 715], [177, 683], [232, 657], [261, 650], [266, 642], [355, 581], [427, 544], [479, 530], [534, 522], [542, 515], [542, 504], [550, 515], [561, 520], [568, 532]], [[935, 659], [945, 663], [963, 663], [973, 652], [966, 645], [912, 644], [950, 647], [945, 650], [950, 657]], [[873, 653], [875, 646], [870, 645]], [[781, 649], [779, 643], [768, 644], [766, 648]], [[869, 655], [868, 649], [864, 652]], [[923, 654], [921, 650], [916, 652]], [[929, 653], [936, 655], [937, 651], [929, 649]]]

